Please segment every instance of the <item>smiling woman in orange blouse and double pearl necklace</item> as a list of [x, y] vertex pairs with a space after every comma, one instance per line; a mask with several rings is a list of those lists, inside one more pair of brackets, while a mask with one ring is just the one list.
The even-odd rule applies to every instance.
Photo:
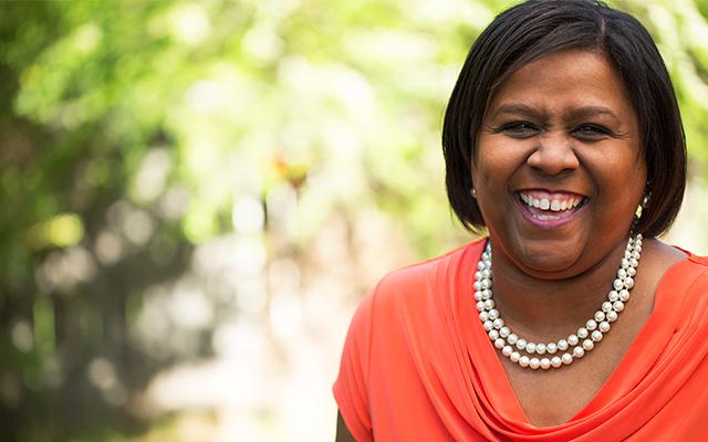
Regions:
[[507, 10], [442, 141], [451, 207], [488, 238], [363, 299], [337, 440], [708, 440], [708, 260], [656, 239], [686, 152], [646, 30], [596, 1]]

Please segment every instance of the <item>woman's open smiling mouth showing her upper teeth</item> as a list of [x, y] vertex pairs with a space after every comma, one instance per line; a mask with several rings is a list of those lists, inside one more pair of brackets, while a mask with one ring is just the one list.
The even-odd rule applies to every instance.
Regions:
[[542, 228], [558, 228], [573, 221], [587, 203], [587, 197], [572, 192], [527, 190], [516, 193], [521, 214], [530, 223]]

